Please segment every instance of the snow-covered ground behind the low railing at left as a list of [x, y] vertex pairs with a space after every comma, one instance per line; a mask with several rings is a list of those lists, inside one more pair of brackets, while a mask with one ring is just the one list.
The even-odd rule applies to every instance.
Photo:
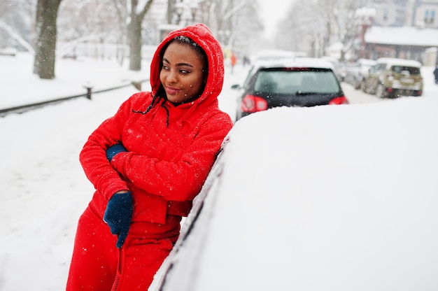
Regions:
[[[146, 62], [141, 71], [133, 72], [127, 69], [127, 62], [122, 67], [115, 60], [57, 59], [56, 78], [42, 80], [32, 73], [33, 62], [33, 57], [26, 52], [15, 57], [0, 56], [0, 108], [85, 94], [85, 87], [92, 87], [93, 91], [103, 90], [149, 78], [149, 64]], [[143, 83], [145, 85], [148, 83]]]

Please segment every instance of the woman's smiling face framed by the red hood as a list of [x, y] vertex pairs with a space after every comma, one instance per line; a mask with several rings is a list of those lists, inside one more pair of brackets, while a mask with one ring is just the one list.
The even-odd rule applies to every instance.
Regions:
[[195, 48], [176, 41], [170, 43], [162, 65], [160, 81], [169, 101], [181, 104], [199, 96], [204, 88], [204, 61]]

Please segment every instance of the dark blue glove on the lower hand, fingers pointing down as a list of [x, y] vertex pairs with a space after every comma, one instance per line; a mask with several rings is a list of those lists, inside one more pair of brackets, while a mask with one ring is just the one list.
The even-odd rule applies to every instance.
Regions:
[[104, 214], [104, 222], [110, 227], [111, 234], [118, 234], [115, 246], [121, 248], [128, 236], [131, 226], [132, 211], [134, 202], [131, 192], [115, 193], [109, 199]]

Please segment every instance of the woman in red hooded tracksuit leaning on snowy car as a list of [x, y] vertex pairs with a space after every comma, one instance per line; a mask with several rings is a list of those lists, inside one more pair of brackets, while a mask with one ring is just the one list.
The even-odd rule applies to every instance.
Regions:
[[232, 127], [218, 108], [223, 79], [220, 44], [204, 24], [172, 31], [153, 56], [151, 92], [92, 132], [80, 162], [96, 192], [66, 290], [148, 289]]

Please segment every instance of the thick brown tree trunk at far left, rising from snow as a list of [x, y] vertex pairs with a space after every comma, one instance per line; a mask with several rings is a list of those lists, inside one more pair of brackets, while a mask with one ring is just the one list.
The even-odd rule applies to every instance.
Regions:
[[57, 15], [61, 0], [38, 0], [34, 73], [41, 79], [55, 78]]

